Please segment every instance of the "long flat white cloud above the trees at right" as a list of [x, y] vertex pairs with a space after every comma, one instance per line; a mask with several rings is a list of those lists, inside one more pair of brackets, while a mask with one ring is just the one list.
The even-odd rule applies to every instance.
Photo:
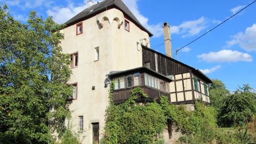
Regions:
[[201, 58], [207, 62], [237, 62], [237, 61], [252, 61], [252, 56], [248, 53], [242, 53], [232, 50], [221, 50], [218, 52], [203, 53], [197, 55], [197, 58]]

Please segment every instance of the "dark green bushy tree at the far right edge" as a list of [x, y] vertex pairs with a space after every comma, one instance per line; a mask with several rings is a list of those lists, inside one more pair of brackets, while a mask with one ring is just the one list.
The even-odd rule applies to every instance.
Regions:
[[244, 84], [243, 87], [239, 86], [234, 94], [225, 98], [220, 113], [223, 126], [245, 126], [253, 120], [253, 115], [256, 114], [256, 99], [251, 90], [248, 84]]

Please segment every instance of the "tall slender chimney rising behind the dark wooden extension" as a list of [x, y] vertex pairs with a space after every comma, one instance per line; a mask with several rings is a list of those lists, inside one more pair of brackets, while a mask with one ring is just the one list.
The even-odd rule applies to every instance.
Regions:
[[173, 58], [172, 54], [172, 41], [171, 41], [171, 33], [170, 33], [170, 25], [167, 22], [164, 22], [164, 45], [165, 45], [165, 54]]

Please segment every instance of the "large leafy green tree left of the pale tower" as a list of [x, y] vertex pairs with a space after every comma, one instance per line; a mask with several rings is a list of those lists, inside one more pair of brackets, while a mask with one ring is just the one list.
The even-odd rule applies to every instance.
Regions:
[[34, 11], [22, 24], [0, 5], [0, 143], [50, 143], [61, 130], [72, 91], [62, 27]]

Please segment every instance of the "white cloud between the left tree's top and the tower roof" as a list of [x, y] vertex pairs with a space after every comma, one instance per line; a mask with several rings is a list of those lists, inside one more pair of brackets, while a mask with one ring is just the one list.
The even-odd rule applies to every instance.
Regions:
[[82, 5], [74, 6], [73, 3], [70, 3], [67, 7], [53, 7], [51, 10], [47, 10], [46, 13], [52, 16], [53, 20], [57, 23], [64, 23], [79, 12], [82, 12], [86, 7], [87, 1], [84, 0]]

